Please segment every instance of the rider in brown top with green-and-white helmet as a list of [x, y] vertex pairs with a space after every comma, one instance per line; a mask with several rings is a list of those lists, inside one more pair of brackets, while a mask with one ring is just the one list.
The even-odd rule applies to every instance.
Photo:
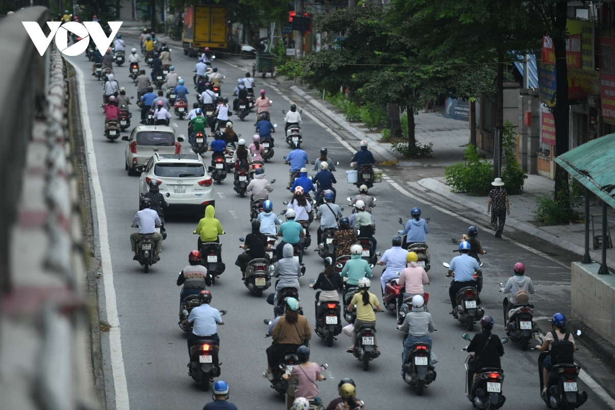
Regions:
[[268, 367], [267, 371], [263, 372], [263, 377], [269, 381], [273, 380], [271, 369], [280, 363], [288, 350], [297, 350], [312, 338], [308, 319], [297, 312], [300, 309], [299, 301], [295, 298], [285, 298], [284, 304], [286, 314], [280, 317], [274, 326], [271, 333], [273, 342], [267, 348]]

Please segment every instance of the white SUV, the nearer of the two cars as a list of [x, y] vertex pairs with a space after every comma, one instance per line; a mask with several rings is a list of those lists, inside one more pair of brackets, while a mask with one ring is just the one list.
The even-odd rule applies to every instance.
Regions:
[[170, 210], [185, 208], [204, 214], [205, 207], [215, 207], [213, 179], [207, 173], [199, 154], [154, 154], [137, 165], [135, 171], [143, 171], [139, 181], [139, 194], [149, 191], [149, 181], [158, 181]]

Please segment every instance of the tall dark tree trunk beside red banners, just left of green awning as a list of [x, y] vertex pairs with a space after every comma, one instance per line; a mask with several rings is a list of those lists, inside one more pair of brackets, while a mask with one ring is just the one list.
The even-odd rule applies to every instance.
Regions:
[[[569, 120], [569, 103], [568, 103], [568, 67], [566, 65], [566, 12], [568, 3], [566, 1], [558, 1], [555, 4], [555, 30], [559, 35], [554, 36], [553, 45], [555, 49], [555, 78], [556, 82], [556, 97], [555, 107], [553, 108], [553, 117], [555, 120], [555, 156], [560, 156], [568, 151], [568, 120]], [[555, 165], [555, 200], [557, 194], [562, 187], [565, 186], [568, 173], [564, 168]]]

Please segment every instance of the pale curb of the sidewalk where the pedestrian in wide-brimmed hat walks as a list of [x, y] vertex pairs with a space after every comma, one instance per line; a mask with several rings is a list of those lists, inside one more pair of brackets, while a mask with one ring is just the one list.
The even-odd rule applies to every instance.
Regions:
[[[450, 187], [448, 187], [448, 185], [441, 183], [437, 179], [424, 178], [418, 181], [418, 184], [426, 189], [429, 189], [429, 191], [435, 192], [438, 195], [442, 195], [446, 199], [450, 199], [451, 201], [458, 203], [459, 205], [475, 210], [478, 213], [482, 213], [483, 215], [490, 217], [490, 215], [488, 215], [487, 213], [487, 207], [485, 207], [485, 205], [480, 205], [462, 197], [461, 195], [454, 194], [454, 192], [450, 191]], [[559, 246], [560, 248], [563, 248], [567, 251], [571, 251], [581, 256], [585, 254], [585, 248], [583, 246], [576, 245], [575, 243], [569, 242], [565, 239], [561, 239], [554, 234], [542, 231], [542, 229], [539, 229], [532, 224], [519, 221], [518, 219], [511, 218], [510, 216], [507, 216], [506, 224], [510, 227], [517, 229], [518, 231], [523, 231], [526, 234], [533, 235], [539, 239], [552, 243], [553, 245]], [[592, 256], [592, 259], [595, 261], [600, 261], [601, 259], [600, 253], [598, 252], [590, 251], [590, 256]], [[606, 260], [608, 262], [608, 265], [615, 266], [615, 261], [613, 259], [607, 258]]]

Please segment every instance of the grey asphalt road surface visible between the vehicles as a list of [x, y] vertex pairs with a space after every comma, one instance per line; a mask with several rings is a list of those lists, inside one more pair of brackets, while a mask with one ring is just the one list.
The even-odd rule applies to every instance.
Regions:
[[[132, 42], [129, 39], [129, 49]], [[174, 48], [174, 47], [172, 47]], [[180, 50], [173, 50], [173, 65], [181, 77], [186, 79], [191, 91], [189, 106], [196, 98], [192, 92], [192, 70], [194, 59], [184, 56]], [[187, 264], [189, 251], [196, 248], [196, 236], [192, 231], [196, 227], [199, 215], [169, 215], [167, 216], [167, 240], [164, 241], [161, 261], [151, 267], [149, 274], [143, 273], [138, 262], [132, 261], [129, 248], [129, 235], [133, 232], [130, 227], [138, 205], [138, 178], [127, 176], [124, 170], [125, 142], [109, 142], [103, 136], [105, 116], [101, 113], [101, 82], [90, 76], [91, 63], [84, 56], [69, 58], [69, 60], [85, 74], [79, 78], [84, 81], [86, 101], [81, 101], [84, 116], [89, 117], [93, 133], [93, 149], [97, 157], [98, 173], [103, 198], [109, 234], [109, 250], [113, 264], [114, 289], [117, 299], [117, 312], [121, 327], [121, 354], [124, 358], [125, 380], [130, 399], [130, 408], [133, 409], [200, 409], [211, 400], [211, 393], [204, 393], [187, 374], [186, 363], [188, 355], [186, 337], [177, 325], [178, 321], [178, 295], [180, 288], [175, 285], [178, 272]], [[236, 68], [216, 61], [221, 73], [226, 76], [222, 85], [223, 95], [232, 93], [238, 77], [244, 77], [245, 69]], [[241, 67], [251, 66], [253, 60], [232, 60], [233, 64]], [[141, 63], [141, 66], [144, 66]], [[128, 77], [128, 66], [115, 69], [116, 79], [120, 86], [126, 87], [129, 95], [136, 95], [136, 87]], [[149, 70], [147, 72], [149, 74]], [[258, 75], [258, 74], [257, 74]], [[282, 98], [269, 85], [269, 78], [263, 82], [257, 77], [255, 89], [264, 88], [274, 104], [271, 108], [272, 122], [284, 129], [280, 112], [288, 109], [289, 103]], [[264, 83], [264, 84], [263, 84]], [[277, 87], [276, 87], [277, 88]], [[287, 97], [293, 98], [290, 91]], [[232, 101], [232, 98], [231, 98]], [[303, 135], [305, 149], [311, 160], [317, 159], [319, 149], [326, 146], [329, 157], [339, 161], [336, 172], [338, 184], [338, 204], [346, 205], [344, 215], [350, 210], [344, 200], [347, 196], [357, 194], [355, 186], [346, 183], [345, 170], [349, 168], [352, 152], [346, 147], [341, 138], [334, 138], [330, 132], [323, 128], [322, 122], [311, 117], [312, 110], [305, 108], [303, 114]], [[133, 106], [133, 126], [137, 125], [140, 111]], [[315, 113], [314, 113], [315, 114]], [[234, 128], [246, 140], [253, 134], [255, 114], [252, 113], [244, 122], [236, 116]], [[172, 126], [178, 135], [187, 135], [187, 121], [172, 118]], [[87, 130], [86, 130], [87, 131]], [[268, 179], [276, 178], [274, 192], [270, 199], [274, 202], [274, 211], [284, 208], [282, 201], [290, 199], [286, 191], [285, 181], [288, 166], [284, 165], [282, 156], [289, 150], [283, 141], [282, 132], [277, 132], [276, 155], [266, 165]], [[127, 135], [127, 133], [124, 133]], [[357, 141], [347, 141], [356, 146]], [[188, 139], [183, 143], [182, 152], [188, 153]], [[436, 153], [437, 154], [437, 153]], [[208, 164], [209, 154], [205, 158]], [[386, 173], [386, 172], [385, 172]], [[309, 175], [314, 175], [310, 172]], [[431, 286], [426, 291], [431, 295], [429, 310], [431, 311], [438, 332], [432, 334], [434, 340], [434, 353], [439, 363], [435, 366], [437, 380], [429, 385], [423, 396], [416, 393], [403, 382], [399, 370], [401, 365], [403, 335], [395, 329], [394, 313], [386, 312], [377, 316], [378, 341], [382, 355], [370, 363], [368, 372], [362, 370], [360, 362], [346, 349], [350, 339], [343, 334], [338, 336], [333, 347], [327, 347], [315, 334], [312, 338], [312, 361], [328, 363], [327, 380], [319, 383], [320, 396], [325, 403], [337, 396], [336, 386], [339, 379], [352, 377], [357, 383], [357, 395], [365, 401], [368, 409], [374, 408], [407, 408], [408, 404], [432, 408], [472, 408], [472, 404], [464, 396], [464, 360], [467, 354], [461, 349], [467, 342], [461, 338], [465, 329], [458, 321], [448, 315], [450, 302], [448, 301], [448, 284], [445, 279], [446, 269], [442, 262], [450, 262], [454, 256], [452, 251], [456, 247], [451, 243], [452, 238], [458, 238], [467, 231], [468, 223], [454, 216], [446, 204], [436, 204], [433, 207], [422, 203], [427, 198], [413, 200], [404, 194], [403, 181], [392, 184], [384, 181], [376, 184], [370, 190], [378, 201], [373, 211], [376, 218], [378, 250], [384, 252], [391, 245], [391, 237], [395, 235], [400, 225], [397, 218], [405, 220], [410, 218], [410, 208], [418, 205], [423, 210], [423, 216], [431, 218], [428, 236], [432, 256], [432, 269], [429, 272]], [[225, 325], [218, 328], [221, 338], [220, 358], [222, 374], [220, 379], [226, 380], [231, 386], [231, 401], [240, 409], [282, 409], [284, 401], [281, 396], [269, 387], [269, 382], [261, 377], [266, 368], [266, 355], [264, 350], [271, 343], [265, 339], [266, 326], [264, 318], [272, 318], [272, 307], [266, 303], [265, 298], [256, 298], [244, 286], [240, 279], [239, 268], [233, 261], [240, 252], [237, 247], [239, 237], [250, 231], [248, 215], [248, 198], [241, 199], [232, 189], [232, 176], [227, 178], [221, 186], [216, 185], [216, 218], [220, 219], [226, 235], [221, 237], [223, 244], [223, 260], [226, 262], [226, 272], [216, 280], [210, 288], [213, 293], [212, 306], [217, 309], [228, 310], [224, 317]], [[200, 216], [202, 217], [202, 216]], [[312, 226], [314, 235], [317, 222]], [[493, 315], [496, 320], [494, 333], [504, 336], [502, 330], [502, 295], [498, 293], [498, 283], [506, 282], [512, 275], [512, 267], [517, 261], [523, 261], [528, 269], [528, 275], [533, 278], [539, 293], [533, 298], [536, 305], [536, 316], [550, 316], [557, 306], [569, 306], [569, 270], [549, 258], [533, 253], [531, 250], [515, 246], [514, 243], [493, 239], [493, 236], [482, 231], [479, 239], [483, 241], [488, 254], [483, 257], [483, 272], [485, 273], [484, 288], [481, 295], [486, 313]], [[309, 280], [316, 278], [322, 270], [322, 259], [312, 252], [314, 245], [304, 256], [306, 275], [301, 282], [301, 301], [304, 312], [311, 325], [314, 325], [314, 291], [309, 290]], [[564, 261], [568, 264], [569, 261]], [[374, 269], [373, 291], [380, 298], [379, 276], [382, 268]], [[103, 272], [103, 278], [105, 277]], [[101, 295], [103, 302], [104, 294]], [[101, 310], [104, 310], [101, 307]], [[104, 315], [103, 315], [104, 317]], [[105, 344], [107, 355], [106, 387], [109, 393], [109, 409], [115, 408], [114, 383], [118, 375], [111, 374], [111, 354], [108, 341]], [[519, 345], [509, 343], [504, 346], [506, 354], [502, 358], [502, 367], [506, 375], [503, 392], [507, 396], [506, 408], [523, 408], [526, 410], [543, 409], [539, 396], [538, 370], [536, 359], [538, 352], [522, 352]], [[580, 380], [579, 380], [580, 381]], [[587, 409], [608, 409], [603, 401], [595, 395], [584, 383], [580, 387], [589, 393], [589, 400], [585, 403]], [[116, 386], [117, 388], [117, 386]], [[123, 406], [123, 404], [122, 404]], [[118, 407], [122, 407], [118, 406]], [[122, 407], [125, 408], [125, 407]]]

